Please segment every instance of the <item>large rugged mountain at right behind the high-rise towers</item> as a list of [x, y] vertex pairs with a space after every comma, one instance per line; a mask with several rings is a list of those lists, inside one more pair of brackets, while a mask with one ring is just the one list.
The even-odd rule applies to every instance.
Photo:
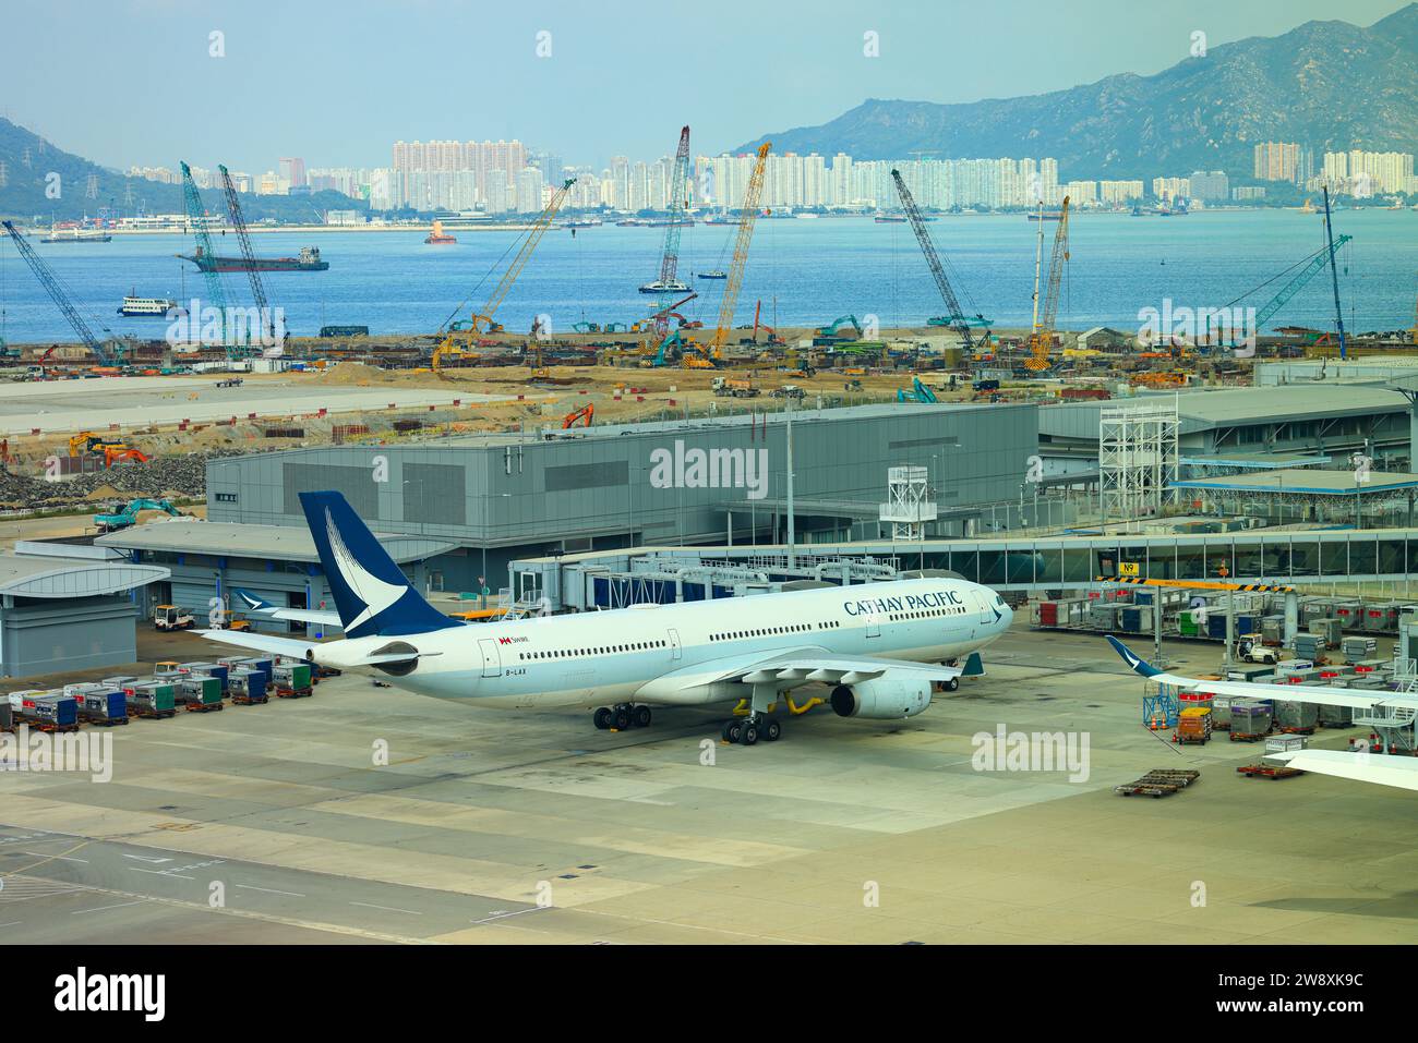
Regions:
[[967, 105], [869, 99], [813, 128], [770, 133], [776, 153], [902, 159], [1052, 156], [1062, 179], [1193, 170], [1252, 174], [1259, 142], [1418, 152], [1418, 3], [1368, 28], [1310, 21], [1212, 47], [1153, 77], [1120, 74], [1029, 98]]

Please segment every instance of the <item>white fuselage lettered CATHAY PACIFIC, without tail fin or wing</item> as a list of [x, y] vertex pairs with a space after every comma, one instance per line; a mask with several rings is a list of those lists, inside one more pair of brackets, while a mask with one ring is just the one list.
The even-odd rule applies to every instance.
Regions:
[[[618, 701], [703, 704], [735, 697], [716, 665], [766, 655], [881, 656], [939, 663], [1010, 628], [1012, 612], [964, 580], [900, 580], [475, 624], [312, 645], [318, 662], [404, 645], [417, 666], [390, 683], [425, 696], [513, 707]], [[342, 650], [340, 646], [346, 646]], [[692, 683], [702, 675], [703, 683]], [[678, 683], [665, 683], [666, 677]], [[742, 686], [739, 686], [742, 687]]]

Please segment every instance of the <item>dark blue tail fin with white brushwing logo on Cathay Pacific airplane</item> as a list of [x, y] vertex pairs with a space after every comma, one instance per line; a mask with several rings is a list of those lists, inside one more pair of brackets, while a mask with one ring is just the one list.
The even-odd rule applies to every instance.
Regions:
[[346, 638], [461, 626], [424, 601], [342, 493], [301, 493], [301, 506]]

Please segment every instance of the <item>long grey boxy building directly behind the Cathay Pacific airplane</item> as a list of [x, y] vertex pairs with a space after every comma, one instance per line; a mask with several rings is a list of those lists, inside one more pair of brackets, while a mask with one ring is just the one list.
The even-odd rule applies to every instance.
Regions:
[[[325, 446], [217, 459], [206, 523], [166, 522], [95, 543], [167, 568], [163, 597], [206, 611], [233, 585], [274, 604], [329, 602], [299, 493], [335, 489], [420, 587], [512, 587], [527, 557], [644, 546], [873, 539], [892, 468], [923, 468], [932, 536], [1011, 524], [1038, 452], [1038, 408], [898, 404]], [[1003, 514], [1001, 514], [1003, 512]], [[233, 608], [235, 608], [233, 605]]]

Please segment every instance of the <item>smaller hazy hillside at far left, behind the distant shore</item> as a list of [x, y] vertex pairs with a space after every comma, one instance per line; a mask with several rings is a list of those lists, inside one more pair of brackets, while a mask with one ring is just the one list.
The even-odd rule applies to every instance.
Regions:
[[[57, 220], [72, 220], [88, 214], [94, 217], [101, 207], [109, 207], [115, 214], [130, 215], [138, 203], [150, 214], [180, 214], [184, 210], [182, 186], [149, 181], [142, 177], [125, 177], [116, 170], [101, 167], [82, 156], [57, 149], [54, 145], [26, 130], [23, 126], [0, 118], [0, 217], [18, 218], [28, 222], [40, 215], [48, 224], [52, 214]], [[173, 160], [172, 169], [177, 169]], [[58, 198], [50, 198], [45, 188], [55, 184], [50, 174], [60, 176]], [[92, 193], [91, 181], [92, 180]], [[223, 213], [225, 201], [218, 188], [203, 188], [203, 203], [208, 211]], [[132, 201], [125, 201], [125, 200]], [[363, 210], [364, 203], [337, 191], [318, 191], [311, 196], [255, 196], [241, 194], [241, 213], [247, 221], [262, 221], [268, 217], [278, 221], [315, 221], [326, 210]]]

